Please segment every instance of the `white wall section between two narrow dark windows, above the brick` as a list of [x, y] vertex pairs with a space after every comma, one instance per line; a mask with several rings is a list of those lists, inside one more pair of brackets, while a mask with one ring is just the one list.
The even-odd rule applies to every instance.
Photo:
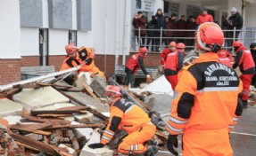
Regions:
[[49, 55], [66, 55], [65, 45], [69, 43], [69, 30], [49, 29]]

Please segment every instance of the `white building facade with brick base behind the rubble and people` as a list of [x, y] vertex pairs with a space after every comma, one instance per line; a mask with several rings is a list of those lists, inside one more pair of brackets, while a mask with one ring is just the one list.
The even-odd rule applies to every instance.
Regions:
[[[244, 26], [256, 27], [254, 6], [247, 1]], [[55, 66], [65, 58], [64, 46], [94, 47], [95, 64], [107, 77], [125, 65], [133, 49], [132, 20], [138, 11], [151, 18], [158, 8], [165, 15], [196, 15], [205, 6], [221, 23], [241, 0], [0, 0], [0, 85], [21, 80], [21, 66]], [[158, 66], [159, 53], [145, 58]]]

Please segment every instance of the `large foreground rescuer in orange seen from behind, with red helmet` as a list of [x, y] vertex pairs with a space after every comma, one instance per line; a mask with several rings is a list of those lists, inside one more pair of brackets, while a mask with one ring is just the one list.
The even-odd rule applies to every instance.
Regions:
[[224, 42], [221, 28], [203, 23], [196, 34], [200, 55], [178, 73], [175, 99], [166, 129], [167, 147], [178, 155], [178, 134], [183, 133], [183, 156], [232, 156], [229, 130], [243, 112], [239, 99], [243, 84], [235, 70], [219, 64], [217, 51]]

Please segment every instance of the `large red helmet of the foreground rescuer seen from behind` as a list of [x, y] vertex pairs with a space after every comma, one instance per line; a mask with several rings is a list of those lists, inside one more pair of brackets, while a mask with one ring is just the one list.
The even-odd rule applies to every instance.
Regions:
[[196, 48], [202, 51], [216, 51], [224, 43], [224, 34], [219, 25], [213, 22], [202, 23], [195, 35]]

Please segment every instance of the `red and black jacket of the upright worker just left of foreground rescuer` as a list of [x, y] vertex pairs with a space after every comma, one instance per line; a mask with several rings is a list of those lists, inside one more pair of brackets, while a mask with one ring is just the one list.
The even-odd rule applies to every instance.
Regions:
[[183, 58], [184, 53], [181, 51], [170, 52], [164, 65], [164, 75], [178, 74], [178, 71], [183, 67]]

